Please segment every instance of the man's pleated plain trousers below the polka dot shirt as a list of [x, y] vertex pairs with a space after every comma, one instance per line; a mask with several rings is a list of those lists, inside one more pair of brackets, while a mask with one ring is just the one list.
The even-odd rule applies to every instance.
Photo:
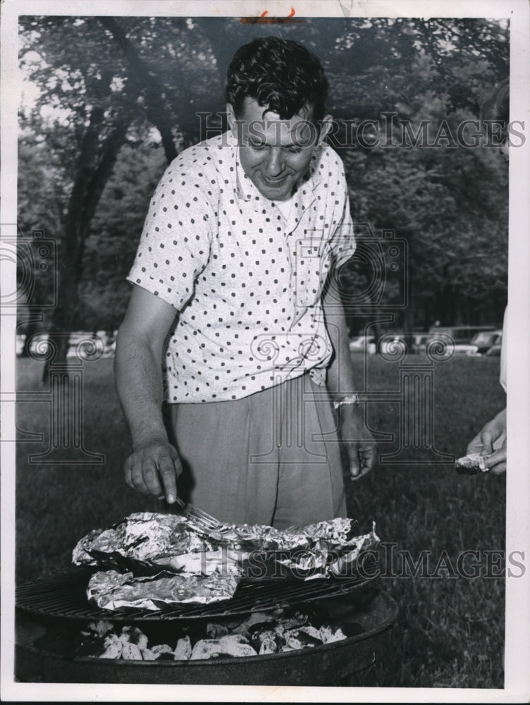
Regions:
[[240, 400], [171, 405], [171, 424], [190, 501], [219, 520], [282, 528], [346, 515], [335, 416], [309, 374]]

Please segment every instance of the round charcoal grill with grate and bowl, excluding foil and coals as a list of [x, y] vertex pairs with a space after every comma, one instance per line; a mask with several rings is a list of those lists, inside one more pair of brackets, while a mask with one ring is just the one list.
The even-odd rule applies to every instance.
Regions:
[[[390, 643], [398, 614], [395, 601], [375, 580], [312, 580], [240, 584], [232, 600], [207, 606], [179, 606], [150, 611], [99, 610], [87, 602], [90, 571], [78, 569], [20, 586], [16, 592], [16, 677], [23, 682], [87, 682], [183, 685], [354, 685], [381, 658]], [[54, 629], [75, 630], [107, 619], [142, 629], [171, 629], [245, 615], [276, 606], [325, 604], [355, 636], [339, 642], [246, 658], [208, 661], [113, 661], [66, 657], [35, 646]], [[361, 679], [359, 682], [359, 678]], [[345, 682], [345, 680], [347, 682]]]

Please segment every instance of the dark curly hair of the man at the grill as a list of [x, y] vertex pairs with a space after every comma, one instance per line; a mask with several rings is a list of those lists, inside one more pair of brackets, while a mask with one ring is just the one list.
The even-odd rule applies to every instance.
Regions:
[[289, 120], [312, 108], [317, 122], [326, 114], [328, 80], [319, 59], [290, 39], [261, 37], [240, 47], [228, 67], [226, 102], [241, 116], [245, 98]]

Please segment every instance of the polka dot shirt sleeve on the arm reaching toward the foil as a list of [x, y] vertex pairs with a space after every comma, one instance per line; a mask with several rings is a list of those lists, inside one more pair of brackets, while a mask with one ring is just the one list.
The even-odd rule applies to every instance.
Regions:
[[[194, 159], [195, 155], [195, 159]], [[215, 217], [215, 179], [197, 152], [177, 157], [156, 187], [128, 281], [180, 310], [207, 265]]]

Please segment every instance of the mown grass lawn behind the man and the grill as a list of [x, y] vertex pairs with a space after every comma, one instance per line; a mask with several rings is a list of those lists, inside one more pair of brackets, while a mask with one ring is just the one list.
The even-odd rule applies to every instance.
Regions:
[[[375, 434], [386, 434], [380, 455], [396, 453], [406, 384], [399, 365], [376, 355], [366, 367], [362, 355], [354, 361], [359, 388], [379, 394], [368, 405], [367, 421]], [[82, 456], [80, 448], [59, 448], [47, 457], [64, 460], [64, 465], [30, 459], [50, 446], [50, 397], [39, 387], [41, 372], [41, 363], [18, 360], [18, 389], [28, 393], [27, 400], [18, 402], [17, 418], [19, 582], [68, 568], [73, 546], [90, 529], [111, 525], [132, 511], [161, 507], [123, 483], [121, 465], [129, 453], [129, 437], [111, 360], [85, 362], [80, 391], [82, 444], [104, 462], [68, 462]], [[424, 372], [419, 374], [425, 379]], [[369, 477], [347, 482], [349, 515], [363, 528], [377, 522], [385, 544], [382, 587], [400, 606], [388, 660], [377, 669], [378, 685], [500, 688], [504, 580], [499, 563], [503, 554], [495, 552], [505, 546], [505, 477], [462, 476], [450, 461], [431, 462], [443, 460], [442, 453], [463, 455], [483, 422], [503, 407], [498, 359], [454, 358], [437, 363], [429, 374], [433, 407], [424, 405], [421, 418], [433, 421], [431, 445], [420, 435], [416, 448], [412, 443], [394, 458], [383, 457]], [[38, 392], [44, 392], [42, 400]], [[44, 441], [28, 441], [30, 433], [44, 434]], [[75, 436], [70, 443], [74, 445]], [[465, 558], [465, 551], [476, 553]], [[469, 577], [462, 570], [458, 574], [459, 566]]]

